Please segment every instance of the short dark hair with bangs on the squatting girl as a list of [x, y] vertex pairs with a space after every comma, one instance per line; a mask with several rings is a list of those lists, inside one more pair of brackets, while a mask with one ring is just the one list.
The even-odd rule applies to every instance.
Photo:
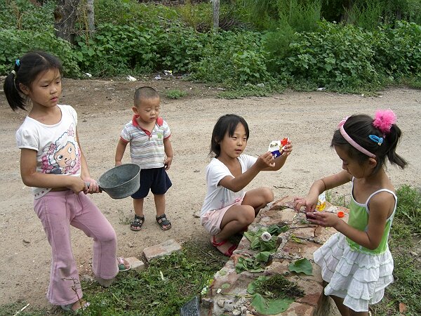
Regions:
[[221, 153], [221, 147], [219, 142], [224, 139], [225, 134], [228, 133], [228, 136], [231, 137], [234, 135], [236, 127], [242, 124], [244, 129], [246, 129], [246, 137], [250, 136], [250, 131], [248, 130], [248, 124], [243, 117], [240, 117], [236, 114], [225, 114], [218, 119], [215, 126], [213, 127], [212, 138], [210, 139], [210, 152], [209, 154], [214, 153], [215, 158], [218, 158]]

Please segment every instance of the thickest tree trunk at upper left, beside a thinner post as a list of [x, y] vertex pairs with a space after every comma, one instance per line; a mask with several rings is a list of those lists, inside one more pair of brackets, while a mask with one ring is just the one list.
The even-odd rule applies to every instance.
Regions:
[[58, 0], [54, 11], [55, 35], [70, 43], [74, 41], [74, 22], [79, 0]]

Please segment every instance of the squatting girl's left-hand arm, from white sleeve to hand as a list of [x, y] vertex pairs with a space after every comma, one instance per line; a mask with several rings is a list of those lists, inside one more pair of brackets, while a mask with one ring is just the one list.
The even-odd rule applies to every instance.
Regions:
[[226, 176], [220, 180], [220, 185], [222, 187], [226, 187], [228, 190], [232, 190], [234, 192], [239, 192], [243, 190], [248, 183], [251, 182], [258, 175], [258, 173], [269, 166], [274, 165], [274, 157], [272, 156], [271, 152], [266, 152], [258, 157], [258, 160], [251, 166], [246, 172], [241, 173], [241, 175], [236, 176]]

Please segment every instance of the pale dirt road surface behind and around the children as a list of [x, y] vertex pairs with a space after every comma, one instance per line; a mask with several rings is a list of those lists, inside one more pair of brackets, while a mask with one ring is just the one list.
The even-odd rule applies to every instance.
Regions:
[[[283, 169], [260, 173], [248, 186], [272, 187], [275, 199], [279, 199], [285, 195], [303, 195], [317, 178], [341, 170], [340, 159], [329, 147], [340, 119], [361, 112], [373, 115], [377, 108], [390, 107], [396, 112], [403, 131], [398, 152], [409, 165], [403, 171], [389, 167], [389, 176], [396, 187], [406, 183], [421, 187], [419, 90], [389, 88], [375, 97], [289, 91], [268, 98], [224, 100], [217, 98], [218, 88], [176, 78], [133, 82], [64, 79], [60, 103], [72, 105], [79, 114], [79, 138], [93, 177], [99, 178], [114, 166], [119, 133], [132, 117], [135, 88], [142, 85], [154, 86], [161, 93], [161, 115], [172, 131], [175, 157], [168, 174], [173, 187], [166, 195], [166, 214], [173, 228], [166, 232], [159, 229], [151, 197], [145, 201], [146, 220], [142, 230], [132, 232], [128, 225], [133, 218], [130, 197], [114, 200], [105, 193], [92, 195], [116, 230], [121, 256], [139, 258], [146, 246], [171, 238], [180, 243], [187, 239], [208, 239], [195, 214], [201, 209], [206, 193], [204, 170], [209, 162], [210, 135], [222, 114], [240, 114], [248, 121], [248, 154], [262, 154], [271, 140], [288, 136], [293, 141], [293, 152]], [[188, 95], [180, 100], [166, 98], [166, 91], [175, 88]], [[23, 111], [13, 112], [4, 93], [0, 93], [0, 140], [3, 143], [0, 151], [6, 157], [0, 165], [0, 305], [25, 301], [32, 308], [48, 307], [45, 294], [51, 250], [32, 209], [29, 187], [20, 179], [20, 152], [15, 145], [15, 131], [25, 115]], [[124, 162], [130, 162], [128, 150]], [[349, 187], [340, 187], [333, 193], [336, 197], [349, 197]], [[74, 229], [72, 242], [80, 274], [90, 272], [91, 240]]]

